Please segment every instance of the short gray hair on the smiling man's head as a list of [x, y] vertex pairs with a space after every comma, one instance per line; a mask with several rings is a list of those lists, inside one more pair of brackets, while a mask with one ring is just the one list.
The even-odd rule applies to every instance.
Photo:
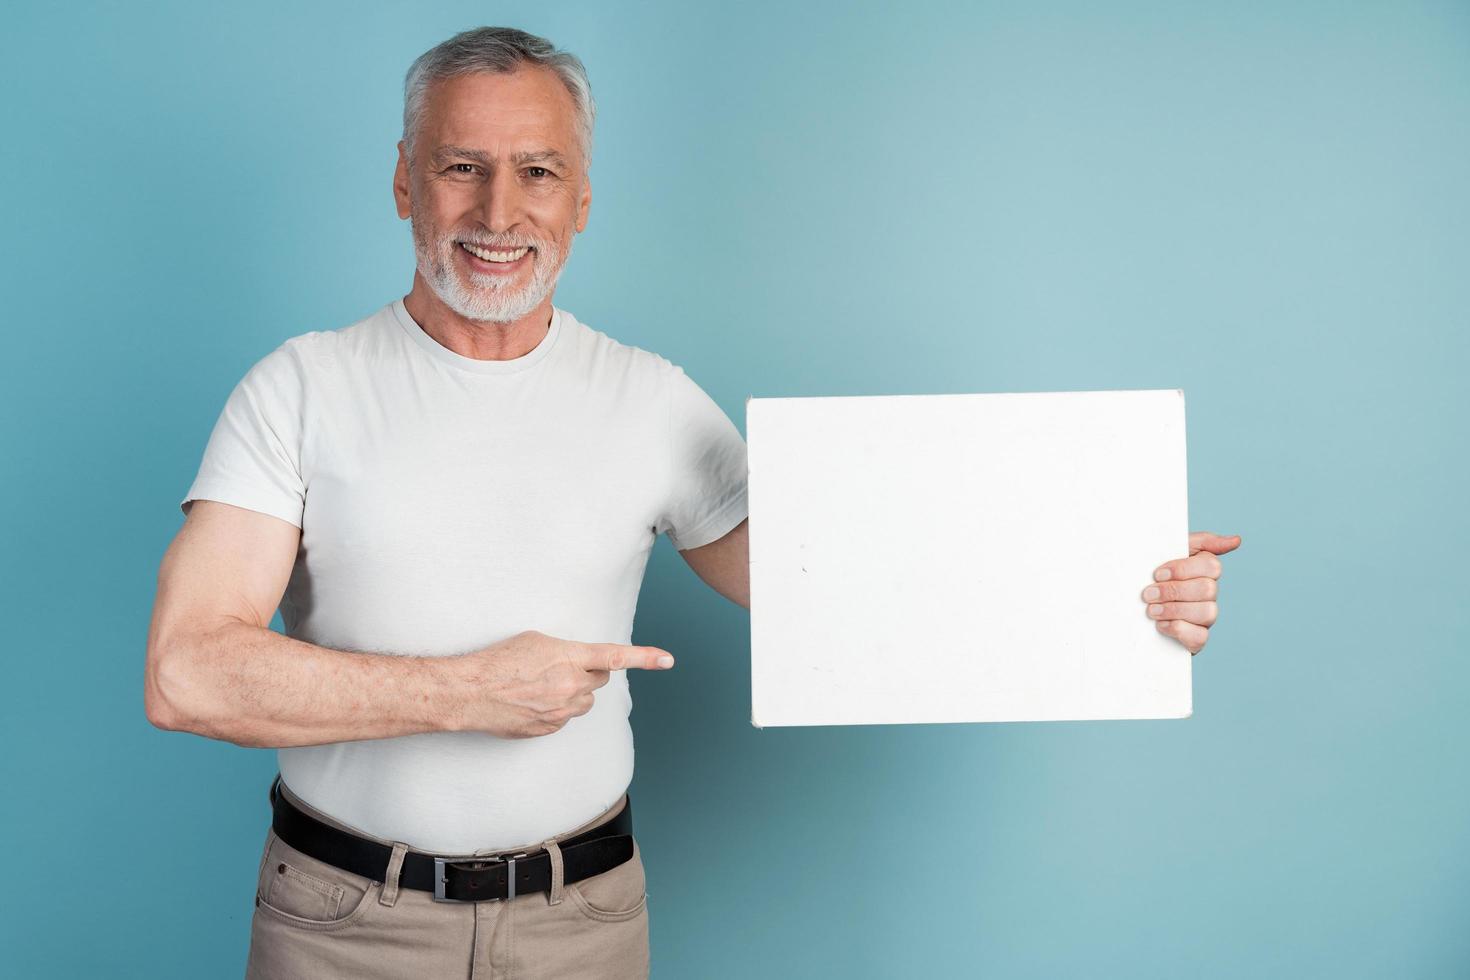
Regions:
[[592, 101], [592, 87], [587, 81], [587, 68], [576, 54], [559, 51], [551, 41], [516, 28], [460, 31], [442, 44], [431, 47], [409, 66], [409, 73], [403, 79], [403, 141], [410, 162], [419, 115], [423, 112], [423, 100], [431, 82], [473, 72], [509, 75], [522, 65], [548, 68], [566, 85], [579, 116], [582, 166], [584, 169], [591, 167], [592, 122], [597, 119], [597, 103]]

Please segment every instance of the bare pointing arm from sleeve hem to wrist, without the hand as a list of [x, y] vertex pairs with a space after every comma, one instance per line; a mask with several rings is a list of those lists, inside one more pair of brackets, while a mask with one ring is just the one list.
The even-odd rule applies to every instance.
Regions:
[[270, 629], [300, 527], [197, 500], [159, 569], [144, 707], [160, 729], [251, 748], [454, 730], [463, 657], [328, 649]]

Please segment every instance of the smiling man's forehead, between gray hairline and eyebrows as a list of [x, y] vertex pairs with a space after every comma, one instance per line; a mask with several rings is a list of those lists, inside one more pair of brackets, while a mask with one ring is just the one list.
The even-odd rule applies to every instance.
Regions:
[[567, 157], [578, 147], [578, 112], [572, 94], [550, 69], [526, 66], [507, 75], [475, 72], [441, 78], [423, 101], [420, 143], [501, 148], [539, 144]]

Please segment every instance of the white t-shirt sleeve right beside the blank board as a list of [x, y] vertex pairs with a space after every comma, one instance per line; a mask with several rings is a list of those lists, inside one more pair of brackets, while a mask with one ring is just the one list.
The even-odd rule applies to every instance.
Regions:
[[719, 541], [747, 517], [745, 439], [703, 388], [669, 372], [672, 482], [657, 530], [679, 551]]

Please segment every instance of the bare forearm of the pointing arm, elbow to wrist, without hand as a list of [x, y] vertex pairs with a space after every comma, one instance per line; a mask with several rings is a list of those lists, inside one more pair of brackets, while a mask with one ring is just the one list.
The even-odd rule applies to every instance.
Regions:
[[159, 657], [159, 727], [250, 748], [323, 745], [453, 730], [462, 657], [329, 649], [232, 620]]

